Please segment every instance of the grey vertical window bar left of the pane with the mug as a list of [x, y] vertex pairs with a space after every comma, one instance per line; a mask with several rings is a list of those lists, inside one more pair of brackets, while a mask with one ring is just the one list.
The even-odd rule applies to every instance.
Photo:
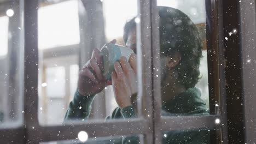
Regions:
[[[24, 1], [24, 125], [26, 143], [37, 143], [38, 124], [38, 1]], [[44, 131], [43, 131], [44, 132]]]

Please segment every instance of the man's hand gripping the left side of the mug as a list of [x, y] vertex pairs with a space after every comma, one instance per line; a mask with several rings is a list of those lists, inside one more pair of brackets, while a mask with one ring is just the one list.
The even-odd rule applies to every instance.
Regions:
[[78, 92], [84, 96], [97, 94], [108, 85], [112, 85], [111, 80], [106, 80], [102, 76], [103, 61], [100, 51], [94, 49], [91, 59], [79, 69]]

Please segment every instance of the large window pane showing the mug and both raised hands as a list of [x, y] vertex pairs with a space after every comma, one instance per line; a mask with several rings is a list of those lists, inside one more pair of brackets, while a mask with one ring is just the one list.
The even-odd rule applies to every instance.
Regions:
[[[40, 124], [137, 118], [137, 1], [42, 1], [40, 5]], [[123, 11], [122, 15], [117, 11]], [[126, 31], [125, 26], [129, 26]], [[126, 60], [122, 61], [121, 56]]]

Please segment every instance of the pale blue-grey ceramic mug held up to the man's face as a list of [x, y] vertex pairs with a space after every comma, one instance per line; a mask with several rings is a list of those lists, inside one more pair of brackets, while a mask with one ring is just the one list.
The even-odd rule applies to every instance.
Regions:
[[102, 75], [105, 79], [111, 79], [111, 73], [114, 70], [114, 62], [120, 60], [124, 56], [128, 60], [133, 53], [132, 49], [121, 45], [107, 43], [101, 48], [101, 56], [103, 59], [103, 72]]

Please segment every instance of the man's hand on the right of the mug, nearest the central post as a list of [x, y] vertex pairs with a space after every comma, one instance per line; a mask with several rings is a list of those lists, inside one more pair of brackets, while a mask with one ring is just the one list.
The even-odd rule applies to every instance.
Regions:
[[131, 95], [137, 93], [136, 55], [132, 53], [127, 62], [125, 57], [114, 63], [112, 85], [115, 100], [121, 109], [132, 105]]

